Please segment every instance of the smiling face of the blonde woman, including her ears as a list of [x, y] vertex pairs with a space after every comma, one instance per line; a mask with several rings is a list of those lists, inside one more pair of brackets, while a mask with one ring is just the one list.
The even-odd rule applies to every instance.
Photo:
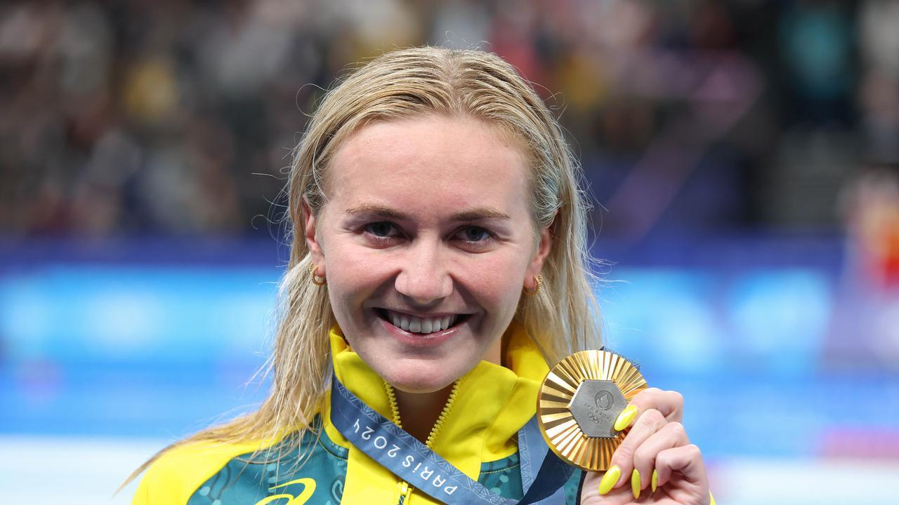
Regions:
[[488, 123], [438, 116], [369, 124], [335, 153], [307, 244], [352, 349], [396, 388], [499, 362], [550, 246], [526, 163]]

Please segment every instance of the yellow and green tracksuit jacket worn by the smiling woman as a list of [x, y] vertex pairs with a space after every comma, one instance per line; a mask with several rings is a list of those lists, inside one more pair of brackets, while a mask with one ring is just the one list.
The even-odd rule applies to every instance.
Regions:
[[[336, 377], [393, 419], [383, 379], [346, 345], [339, 329], [330, 338]], [[430, 447], [487, 489], [521, 499], [517, 433], [535, 413], [548, 368], [521, 327], [512, 324], [503, 338], [508, 339], [504, 362], [509, 368], [481, 361], [463, 377]], [[330, 395], [325, 395], [314, 422], [319, 436], [306, 431], [300, 450], [278, 458], [253, 441], [174, 447], [147, 469], [132, 505], [440, 503], [353, 447], [331, 424], [330, 412]], [[565, 484], [566, 503], [579, 501], [580, 479], [581, 472], [574, 472]]]

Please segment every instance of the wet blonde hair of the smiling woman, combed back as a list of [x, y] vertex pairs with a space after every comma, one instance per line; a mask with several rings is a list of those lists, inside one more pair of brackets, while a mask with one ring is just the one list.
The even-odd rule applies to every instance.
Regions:
[[[329, 391], [328, 332], [335, 320], [327, 288], [310, 279], [302, 201], [307, 200], [313, 215], [324, 208], [328, 164], [359, 128], [372, 121], [423, 114], [485, 120], [525, 150], [534, 226], [536, 230], [549, 226], [553, 242], [539, 293], [521, 298], [514, 319], [550, 364], [575, 350], [600, 346], [586, 244], [587, 207], [578, 188], [580, 168], [547, 106], [512, 66], [492, 53], [431, 47], [396, 50], [361, 66], [327, 93], [295, 149], [287, 185], [290, 258], [280, 284], [274, 350], [265, 369], [273, 376], [271, 394], [256, 412], [170, 447], [199, 440], [274, 442], [285, 433], [301, 435], [312, 429], [310, 420]], [[539, 239], [539, 233], [535, 235]], [[300, 439], [290, 437], [294, 447], [282, 450], [296, 448]]]

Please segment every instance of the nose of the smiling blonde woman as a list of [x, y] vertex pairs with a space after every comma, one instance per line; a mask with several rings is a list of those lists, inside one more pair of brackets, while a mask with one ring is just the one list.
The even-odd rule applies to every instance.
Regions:
[[441, 259], [439, 238], [419, 238], [406, 250], [396, 276], [396, 290], [417, 305], [430, 305], [452, 293], [448, 265]]

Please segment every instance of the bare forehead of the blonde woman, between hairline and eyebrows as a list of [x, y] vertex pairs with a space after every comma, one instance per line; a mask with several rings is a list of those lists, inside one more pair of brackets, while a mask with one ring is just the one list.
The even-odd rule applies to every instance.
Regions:
[[378, 121], [348, 138], [328, 167], [328, 206], [360, 203], [439, 215], [492, 207], [528, 217], [521, 147], [483, 120], [423, 116]]

